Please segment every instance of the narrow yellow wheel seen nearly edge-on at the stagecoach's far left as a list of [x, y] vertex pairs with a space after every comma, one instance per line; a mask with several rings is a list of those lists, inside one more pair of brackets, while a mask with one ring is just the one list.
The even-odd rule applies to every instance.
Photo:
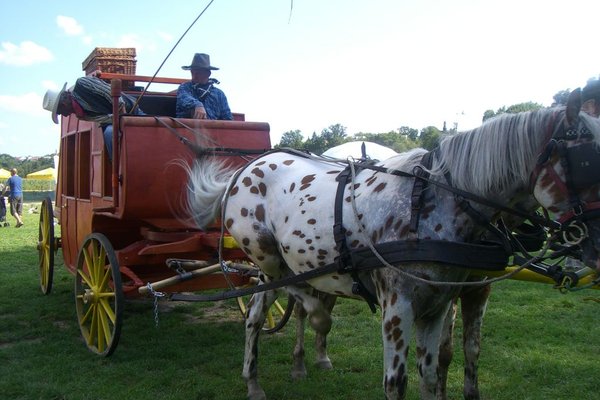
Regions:
[[52, 291], [52, 276], [54, 274], [54, 213], [52, 200], [46, 197], [40, 209], [40, 224], [38, 228], [38, 268], [42, 293]]

